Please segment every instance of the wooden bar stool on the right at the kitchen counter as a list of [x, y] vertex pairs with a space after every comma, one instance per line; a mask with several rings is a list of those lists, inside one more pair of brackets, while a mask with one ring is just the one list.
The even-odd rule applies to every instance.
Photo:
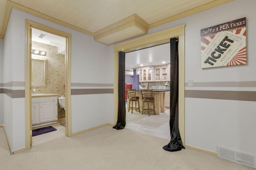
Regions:
[[[153, 90], [152, 89], [140, 89], [141, 90], [141, 96], [142, 96], [142, 113], [144, 111], [148, 112], [148, 116], [150, 115], [150, 111], [154, 112], [154, 115], [156, 115], [155, 113], [155, 100], [152, 97], [153, 96]], [[147, 102], [148, 103], [148, 108], [144, 109], [144, 103]], [[149, 103], [153, 104], [153, 109], [149, 108]]]

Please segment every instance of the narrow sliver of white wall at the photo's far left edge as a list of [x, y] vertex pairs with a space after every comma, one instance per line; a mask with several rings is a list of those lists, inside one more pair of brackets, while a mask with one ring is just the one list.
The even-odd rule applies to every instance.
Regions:
[[[4, 55], [4, 39], [0, 39], [0, 88], [3, 83], [3, 55]], [[4, 94], [0, 93], [0, 125], [4, 124]]]

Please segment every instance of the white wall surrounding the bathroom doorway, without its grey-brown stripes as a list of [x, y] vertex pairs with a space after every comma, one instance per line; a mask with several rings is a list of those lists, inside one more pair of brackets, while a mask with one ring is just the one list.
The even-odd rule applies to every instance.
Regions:
[[[16, 9], [12, 9], [6, 30], [6, 37], [4, 38], [4, 82], [24, 82], [25, 19], [59, 29], [72, 35], [71, 83], [113, 84], [114, 56], [110, 53], [107, 45], [94, 41], [93, 37], [89, 35], [26, 14], [25, 12]], [[24, 90], [24, 87], [19, 88]], [[6, 124], [6, 119], [8, 119], [6, 131], [12, 149], [20, 149], [25, 147], [24, 98], [11, 99], [9, 96], [4, 96], [6, 99], [6, 105], [4, 107], [4, 124]], [[103, 106], [106, 107], [101, 107], [102, 104], [98, 103], [98, 101], [104, 102]], [[95, 105], [96, 103], [97, 105]], [[21, 109], [16, 109], [20, 107]], [[113, 94], [92, 94], [91, 96], [74, 95], [71, 97], [71, 112], [71, 119], [73, 122], [72, 133], [97, 125], [112, 123], [114, 117]], [[18, 119], [19, 121], [16, 121]], [[79, 121], [75, 122], [74, 120]]]

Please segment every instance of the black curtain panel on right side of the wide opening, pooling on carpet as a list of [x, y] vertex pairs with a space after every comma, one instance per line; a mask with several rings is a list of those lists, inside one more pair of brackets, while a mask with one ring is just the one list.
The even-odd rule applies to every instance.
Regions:
[[178, 117], [178, 75], [179, 75], [179, 68], [178, 68], [178, 41], [176, 38], [170, 39], [170, 48], [171, 48], [171, 84], [170, 84], [170, 133], [171, 133], [171, 140], [168, 145], [164, 146], [163, 149], [173, 152], [178, 151], [181, 149], [185, 149], [182, 144], [182, 140], [180, 137], [179, 131], [179, 117]]

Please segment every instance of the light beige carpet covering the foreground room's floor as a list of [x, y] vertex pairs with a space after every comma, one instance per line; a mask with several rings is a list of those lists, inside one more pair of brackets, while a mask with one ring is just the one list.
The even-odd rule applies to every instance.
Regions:
[[124, 128], [98, 128], [10, 155], [0, 128], [3, 170], [255, 170], [191, 149], [167, 152], [167, 139]]

